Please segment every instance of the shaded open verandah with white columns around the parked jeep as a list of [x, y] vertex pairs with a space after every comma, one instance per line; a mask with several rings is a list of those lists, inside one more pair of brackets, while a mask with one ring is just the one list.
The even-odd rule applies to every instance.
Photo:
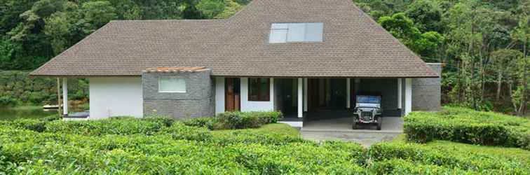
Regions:
[[[383, 130], [401, 130], [400, 116], [412, 111], [411, 78], [275, 78], [275, 109], [283, 123], [351, 130], [355, 94], [381, 94]], [[383, 119], [384, 120], [384, 119]]]

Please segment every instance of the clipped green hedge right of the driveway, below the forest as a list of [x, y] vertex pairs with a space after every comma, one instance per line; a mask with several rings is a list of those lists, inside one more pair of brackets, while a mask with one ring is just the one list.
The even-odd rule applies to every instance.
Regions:
[[414, 112], [405, 117], [409, 141], [435, 139], [530, 150], [530, 120], [500, 113], [444, 107], [441, 112]]

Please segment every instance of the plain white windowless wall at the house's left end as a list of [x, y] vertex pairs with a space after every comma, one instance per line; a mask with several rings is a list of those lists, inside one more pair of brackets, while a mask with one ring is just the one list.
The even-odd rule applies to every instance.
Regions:
[[142, 78], [89, 78], [89, 119], [144, 116]]

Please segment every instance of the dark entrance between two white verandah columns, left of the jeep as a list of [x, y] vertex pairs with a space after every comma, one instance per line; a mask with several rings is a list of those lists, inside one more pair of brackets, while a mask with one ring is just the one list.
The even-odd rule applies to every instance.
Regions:
[[346, 78], [309, 78], [308, 111], [346, 109]]

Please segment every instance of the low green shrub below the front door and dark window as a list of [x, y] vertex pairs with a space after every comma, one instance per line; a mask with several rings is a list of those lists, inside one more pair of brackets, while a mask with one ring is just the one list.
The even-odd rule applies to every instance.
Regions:
[[257, 128], [282, 117], [280, 112], [225, 112], [216, 116], [220, 129]]

